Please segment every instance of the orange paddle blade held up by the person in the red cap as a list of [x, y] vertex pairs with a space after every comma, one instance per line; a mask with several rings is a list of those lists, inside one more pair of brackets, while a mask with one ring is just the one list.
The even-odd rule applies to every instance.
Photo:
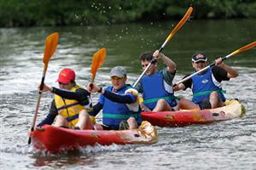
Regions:
[[55, 48], [58, 44], [58, 40], [59, 34], [57, 32], [50, 34], [48, 37], [46, 37], [43, 58], [44, 68], [47, 67], [49, 59], [55, 53]]

